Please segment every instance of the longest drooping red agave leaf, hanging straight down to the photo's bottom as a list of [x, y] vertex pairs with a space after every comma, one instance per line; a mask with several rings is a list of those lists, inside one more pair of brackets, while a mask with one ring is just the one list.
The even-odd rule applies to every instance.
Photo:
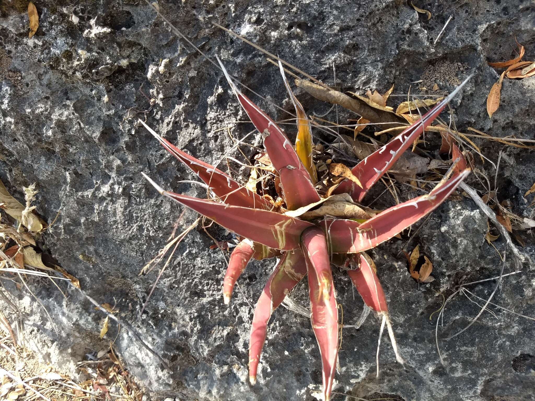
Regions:
[[330, 399], [338, 360], [338, 307], [335, 299], [325, 234], [318, 227], [305, 230], [310, 320], [322, 356], [323, 397]]

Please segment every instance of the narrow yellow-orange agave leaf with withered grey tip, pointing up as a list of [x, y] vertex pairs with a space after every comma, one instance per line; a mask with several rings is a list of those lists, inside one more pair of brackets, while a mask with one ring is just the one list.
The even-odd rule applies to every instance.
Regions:
[[280, 61], [279, 67], [282, 80], [284, 81], [284, 86], [288, 91], [288, 95], [290, 96], [295, 108], [295, 113], [297, 114], [297, 137], [295, 139], [295, 153], [297, 153], [297, 157], [299, 157], [301, 160], [304, 168], [307, 169], [310, 179], [312, 180], [312, 184], [316, 184], [318, 181], [318, 173], [316, 172], [314, 160], [312, 160], [312, 127], [310, 125], [310, 120], [308, 119], [307, 114], [304, 112], [303, 106], [295, 97], [292, 88], [290, 88], [290, 84], [286, 79], [284, 68], [282, 68]]

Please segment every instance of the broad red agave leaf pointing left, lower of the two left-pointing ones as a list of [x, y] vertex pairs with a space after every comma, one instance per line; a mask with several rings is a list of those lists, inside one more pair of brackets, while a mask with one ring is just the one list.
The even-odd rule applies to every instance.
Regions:
[[286, 251], [299, 248], [301, 233], [309, 227], [314, 227], [312, 223], [307, 221], [294, 219], [268, 210], [225, 205], [206, 199], [164, 191], [146, 174], [143, 174], [143, 176], [160, 194], [195, 210], [229, 231], [270, 248]]

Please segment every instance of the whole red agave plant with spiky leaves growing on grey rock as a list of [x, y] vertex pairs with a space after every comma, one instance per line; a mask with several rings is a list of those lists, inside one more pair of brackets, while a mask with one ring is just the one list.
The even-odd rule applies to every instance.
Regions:
[[[380, 331], [383, 332], [386, 323], [396, 359], [403, 363], [395, 345], [383, 289], [369, 257], [363, 251], [389, 240], [437, 208], [470, 170], [465, 168], [465, 163], [458, 163], [429, 194], [378, 214], [359, 203], [373, 184], [437, 118], [466, 81], [421, 119], [360, 161], [351, 170], [358, 180], [345, 180], [330, 191], [330, 196], [322, 197], [315, 189], [310, 124], [286, 81], [282, 65], [279, 63], [281, 74], [297, 113], [295, 150], [278, 125], [242, 94], [223, 64], [220, 61], [219, 64], [239, 103], [263, 137], [265, 150], [277, 172], [276, 182], [282, 190], [285, 207], [273, 203], [269, 196], [248, 190], [216, 167], [181, 151], [141, 121], [165, 149], [207, 184], [215, 198], [198, 199], [165, 191], [143, 175], [160, 194], [246, 238], [235, 246], [228, 263], [223, 283], [225, 304], [230, 302], [234, 284], [251, 258], [279, 258], [255, 307], [249, 343], [251, 384], [256, 383], [258, 363], [273, 310], [305, 275], [308, 276], [310, 319], [322, 358], [323, 396], [328, 400], [338, 358], [338, 309], [331, 274], [334, 261], [347, 270], [364, 303], [382, 315]], [[460, 155], [456, 149], [455, 153], [454, 158]]]

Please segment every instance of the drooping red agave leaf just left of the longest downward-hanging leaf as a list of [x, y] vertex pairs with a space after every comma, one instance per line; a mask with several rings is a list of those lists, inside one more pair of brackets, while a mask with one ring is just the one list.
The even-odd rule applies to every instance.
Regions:
[[255, 384], [258, 362], [264, 347], [271, 314], [307, 274], [307, 265], [300, 249], [285, 252], [271, 273], [255, 307], [249, 341], [249, 381]]

